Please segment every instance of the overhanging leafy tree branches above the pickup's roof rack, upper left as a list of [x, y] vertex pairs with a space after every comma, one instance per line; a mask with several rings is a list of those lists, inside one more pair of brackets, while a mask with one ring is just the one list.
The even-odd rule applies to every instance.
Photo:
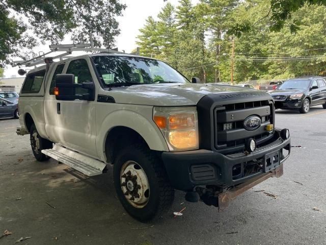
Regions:
[[[94, 36], [96, 46], [112, 47], [120, 33], [116, 16], [125, 5], [113, 0], [3, 0], [0, 2], [0, 65], [32, 48], [39, 38], [52, 44], [72, 33], [76, 42]], [[22, 16], [19, 18], [18, 16]], [[30, 34], [33, 33], [33, 34]]]

